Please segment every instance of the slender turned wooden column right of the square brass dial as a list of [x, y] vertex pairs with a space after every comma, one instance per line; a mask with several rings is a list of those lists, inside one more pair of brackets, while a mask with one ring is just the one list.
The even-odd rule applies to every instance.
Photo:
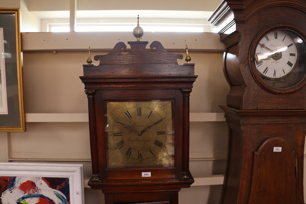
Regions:
[[189, 96], [192, 89], [182, 89], [183, 93], [183, 166], [181, 178], [189, 179]]

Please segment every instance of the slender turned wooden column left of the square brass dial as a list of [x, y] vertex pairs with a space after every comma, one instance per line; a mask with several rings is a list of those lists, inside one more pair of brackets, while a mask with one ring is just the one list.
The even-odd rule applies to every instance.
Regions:
[[91, 153], [91, 168], [92, 174], [90, 180], [101, 181], [98, 165], [98, 146], [97, 146], [97, 131], [95, 121], [95, 90], [85, 90], [88, 98], [88, 113], [89, 113], [89, 137], [90, 137], [90, 153]]

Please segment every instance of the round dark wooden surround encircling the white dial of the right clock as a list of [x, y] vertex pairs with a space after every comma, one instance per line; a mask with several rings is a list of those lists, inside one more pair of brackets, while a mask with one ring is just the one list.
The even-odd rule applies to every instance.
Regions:
[[[265, 36], [271, 32], [290, 32], [292, 33], [292, 35], [296, 35], [302, 40], [302, 43], [300, 43], [299, 46], [295, 45], [297, 50], [297, 56], [296, 56], [296, 62], [293, 63], [292, 66], [293, 68], [290, 69], [290, 71], [286, 72], [284, 76], [278, 78], [265, 76], [257, 69], [256, 62], [252, 60], [252, 57], [254, 57], [256, 54], [256, 49], [257, 46], [259, 45], [259, 42], [262, 41], [262, 39], [265, 38]], [[305, 56], [305, 50], [304, 52], [302, 52], [302, 54], [299, 50], [302, 50], [304, 49], [304, 47], [306, 47], [305, 36], [306, 34], [295, 26], [279, 25], [279, 24], [268, 28], [264, 28], [256, 35], [250, 46], [250, 52], [248, 57], [249, 57], [249, 66], [252, 72], [252, 76], [254, 77], [254, 79], [256, 80], [256, 82], [259, 84], [260, 87], [274, 94], [275, 93], [284, 94], [284, 93], [291, 93], [297, 91], [304, 86], [304, 84], [306, 83], [306, 63], [303, 62], [301, 58]], [[292, 36], [290, 36], [290, 38], [292, 39]], [[292, 40], [294, 41], [294, 39]], [[300, 46], [304, 47], [300, 48]], [[302, 74], [298, 72], [300, 69], [303, 70]], [[297, 74], [293, 74], [294, 72], [300, 74], [300, 76], [296, 76]], [[285, 80], [287, 80], [287, 83], [285, 83], [286, 82]]]

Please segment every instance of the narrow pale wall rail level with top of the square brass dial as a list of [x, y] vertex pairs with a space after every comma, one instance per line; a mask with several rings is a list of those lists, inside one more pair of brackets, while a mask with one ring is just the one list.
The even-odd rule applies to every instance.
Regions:
[[[224, 113], [190, 113], [190, 122], [225, 121]], [[27, 122], [88, 122], [88, 113], [26, 113]]]

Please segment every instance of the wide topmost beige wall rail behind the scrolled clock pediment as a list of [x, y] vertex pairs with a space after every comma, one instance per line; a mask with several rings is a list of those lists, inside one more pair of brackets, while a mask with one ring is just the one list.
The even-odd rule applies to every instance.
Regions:
[[[116, 44], [114, 42], [118, 41], [124, 42], [129, 50], [127, 42], [136, 40], [126, 32], [23, 32], [21, 35], [23, 51], [87, 51], [88, 46], [91, 50], [112, 50]], [[185, 44], [190, 47], [188, 51], [224, 52], [225, 50], [218, 33], [146, 32], [141, 41], [148, 41], [150, 45], [156, 39], [166, 50], [185, 50]]]

